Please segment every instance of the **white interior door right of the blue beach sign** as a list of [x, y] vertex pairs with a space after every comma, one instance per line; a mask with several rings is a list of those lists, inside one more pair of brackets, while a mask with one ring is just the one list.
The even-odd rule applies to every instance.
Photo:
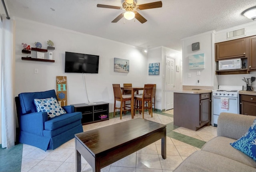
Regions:
[[165, 110], [173, 109], [173, 92], [175, 87], [175, 59], [165, 57]]

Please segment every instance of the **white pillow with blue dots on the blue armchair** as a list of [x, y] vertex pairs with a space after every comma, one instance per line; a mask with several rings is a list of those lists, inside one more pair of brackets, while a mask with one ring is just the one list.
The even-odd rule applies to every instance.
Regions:
[[34, 99], [34, 103], [36, 104], [36, 110], [38, 112], [47, 112], [49, 118], [66, 113], [54, 97], [47, 99]]

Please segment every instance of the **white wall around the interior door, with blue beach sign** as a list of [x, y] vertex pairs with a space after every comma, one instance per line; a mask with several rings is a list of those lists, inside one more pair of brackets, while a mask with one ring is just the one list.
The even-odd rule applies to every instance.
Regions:
[[[180, 66], [182, 53], [167, 47], [156, 47], [148, 50], [148, 63], [160, 63], [159, 75], [148, 75], [148, 83], [156, 83], [156, 109], [165, 109], [165, 57], [172, 57], [175, 59], [175, 65]], [[181, 71], [175, 71], [175, 88], [182, 88]]]

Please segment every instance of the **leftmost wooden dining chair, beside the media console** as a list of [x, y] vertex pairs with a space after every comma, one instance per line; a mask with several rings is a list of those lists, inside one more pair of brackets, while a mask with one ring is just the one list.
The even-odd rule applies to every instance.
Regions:
[[[131, 109], [126, 109], [125, 102], [131, 101], [131, 95], [123, 95], [121, 93], [120, 84], [112, 84], [114, 91], [114, 116], [116, 115], [116, 109], [120, 109], [120, 119], [122, 119], [122, 112], [131, 111]], [[116, 101], [120, 101], [120, 107], [116, 107]]]

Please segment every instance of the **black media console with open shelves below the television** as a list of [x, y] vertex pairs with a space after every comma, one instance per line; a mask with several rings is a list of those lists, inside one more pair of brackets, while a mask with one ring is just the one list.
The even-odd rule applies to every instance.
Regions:
[[82, 125], [109, 120], [109, 103], [99, 101], [74, 104], [73, 106], [76, 112], [82, 112]]

